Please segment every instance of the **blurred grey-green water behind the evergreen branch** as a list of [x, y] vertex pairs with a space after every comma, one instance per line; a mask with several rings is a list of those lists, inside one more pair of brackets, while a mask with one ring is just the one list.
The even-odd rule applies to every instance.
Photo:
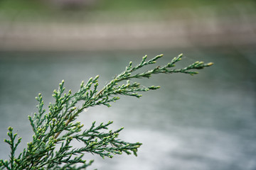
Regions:
[[[111, 108], [90, 108], [79, 120], [90, 127], [114, 120], [112, 129], [124, 127], [122, 140], [142, 142], [138, 157], [117, 155], [95, 159], [89, 169], [256, 169], [256, 50], [230, 48], [181, 50], [178, 67], [196, 60], [214, 62], [191, 77], [188, 74], [156, 75], [138, 79], [161, 89], [141, 99], [122, 97]], [[164, 53], [159, 64], [171, 61], [178, 51], [136, 52], [0, 52], [0, 157], [7, 159], [3, 142], [7, 128], [23, 137], [18, 151], [31, 141], [27, 116], [36, 112], [35, 96], [45, 103], [65, 79], [66, 89], [76, 91], [82, 80], [100, 75], [101, 86], [142, 56]]]

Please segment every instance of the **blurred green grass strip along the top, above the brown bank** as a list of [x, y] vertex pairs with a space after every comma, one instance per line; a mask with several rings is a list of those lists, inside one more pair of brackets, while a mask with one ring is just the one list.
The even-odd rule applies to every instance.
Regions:
[[[203, 9], [202, 9], [203, 8]], [[256, 13], [256, 3], [205, 0], [98, 0], [90, 6], [57, 6], [46, 1], [1, 0], [0, 21], [109, 22], [156, 21], [170, 18], [238, 16]]]

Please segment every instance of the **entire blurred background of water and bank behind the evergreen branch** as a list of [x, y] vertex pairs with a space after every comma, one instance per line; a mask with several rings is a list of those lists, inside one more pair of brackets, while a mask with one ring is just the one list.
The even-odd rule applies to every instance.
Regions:
[[161, 89], [80, 115], [85, 128], [114, 120], [111, 128], [124, 127], [122, 140], [143, 143], [138, 157], [87, 154], [95, 159], [89, 169], [256, 169], [252, 0], [1, 0], [1, 159], [8, 159], [3, 140], [10, 125], [23, 137], [18, 151], [31, 141], [27, 116], [36, 112], [39, 92], [53, 102], [62, 79], [77, 91], [99, 74], [104, 86], [129, 61], [163, 53], [161, 65], [181, 52], [177, 67], [197, 60], [215, 65], [193, 77], [139, 79]]

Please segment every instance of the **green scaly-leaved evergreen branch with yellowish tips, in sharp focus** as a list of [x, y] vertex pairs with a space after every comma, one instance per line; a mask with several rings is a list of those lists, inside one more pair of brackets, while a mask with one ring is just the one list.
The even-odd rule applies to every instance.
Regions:
[[[174, 69], [176, 62], [181, 60], [182, 55], [174, 57], [170, 63], [158, 66], [146, 72], [134, 73], [146, 65], [155, 64], [156, 60], [163, 55], [158, 55], [146, 61], [146, 56], [142, 58], [137, 66], [132, 67], [132, 62], [125, 68], [124, 72], [114, 77], [106, 86], [98, 91], [98, 79], [90, 78], [85, 84], [82, 82], [79, 91], [72, 94], [68, 91], [64, 93], [64, 81], [59, 84], [58, 90], [53, 91], [55, 103], [50, 103], [48, 112], [43, 108], [43, 98], [38, 94], [38, 113], [33, 117], [28, 116], [34, 132], [33, 140], [27, 144], [23, 152], [15, 155], [16, 148], [21, 142], [21, 137], [16, 140], [17, 134], [13, 134], [13, 128], [9, 128], [7, 135], [9, 140], [4, 140], [11, 147], [9, 160], [0, 160], [0, 169], [86, 169], [93, 161], [86, 162], [83, 159], [85, 153], [92, 153], [100, 157], [112, 158], [114, 154], [134, 154], [137, 156], [137, 149], [142, 145], [139, 142], [129, 143], [118, 138], [119, 130], [108, 130], [112, 122], [92, 123], [90, 128], [82, 130], [83, 125], [75, 122], [78, 115], [92, 106], [105, 105], [110, 107], [110, 103], [117, 101], [119, 95], [142, 96], [139, 92], [159, 89], [159, 86], [144, 87], [139, 83], [130, 83], [130, 79], [150, 78], [152, 74], [186, 73], [197, 74], [194, 69], [203, 69], [213, 63], [204, 64], [194, 62], [188, 67]], [[127, 81], [120, 84], [121, 81]], [[81, 103], [82, 104], [78, 104]], [[75, 148], [73, 141], [83, 143], [83, 147]], [[17, 142], [16, 142], [17, 141]]]

